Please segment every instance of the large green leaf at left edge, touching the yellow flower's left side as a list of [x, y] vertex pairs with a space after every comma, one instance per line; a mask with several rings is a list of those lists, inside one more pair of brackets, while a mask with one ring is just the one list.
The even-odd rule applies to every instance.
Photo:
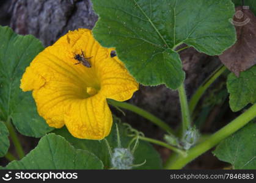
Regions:
[[34, 99], [20, 89], [24, 70], [43, 46], [32, 35], [17, 35], [0, 26], [0, 119], [12, 119], [23, 135], [41, 137], [51, 128], [38, 116]]

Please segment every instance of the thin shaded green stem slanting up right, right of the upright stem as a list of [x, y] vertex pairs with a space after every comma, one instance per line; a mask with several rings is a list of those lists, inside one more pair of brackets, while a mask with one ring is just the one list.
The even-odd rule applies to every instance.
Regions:
[[189, 101], [189, 111], [192, 114], [194, 112], [194, 109], [197, 106], [197, 103], [199, 102], [200, 98], [202, 97], [203, 93], [207, 90], [208, 87], [210, 87], [211, 84], [219, 77], [221, 74], [226, 70], [226, 67], [224, 65], [219, 66], [217, 70], [215, 70], [205, 81], [202, 85], [197, 89], [196, 93], [192, 96], [191, 100]]

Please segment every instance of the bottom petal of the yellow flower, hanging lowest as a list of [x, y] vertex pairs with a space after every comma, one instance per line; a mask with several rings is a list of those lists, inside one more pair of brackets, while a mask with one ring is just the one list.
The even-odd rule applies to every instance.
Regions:
[[82, 100], [70, 99], [65, 125], [77, 138], [100, 140], [106, 137], [112, 126], [112, 115], [106, 99], [100, 95]]

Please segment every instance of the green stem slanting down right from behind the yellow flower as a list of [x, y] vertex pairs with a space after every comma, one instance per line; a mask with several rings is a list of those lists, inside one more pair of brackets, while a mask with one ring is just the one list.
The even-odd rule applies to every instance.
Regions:
[[126, 102], [118, 102], [114, 101], [112, 99], [108, 99], [108, 103], [111, 104], [114, 107], [121, 107], [123, 109], [130, 110], [134, 113], [137, 113], [138, 115], [141, 115], [142, 117], [152, 121], [154, 124], [158, 125], [161, 127], [161, 129], [164, 129], [164, 131], [169, 132], [170, 134], [174, 134], [174, 131], [166, 124], [164, 121], [160, 120], [159, 118], [155, 117], [152, 115], [152, 113], [149, 113], [137, 106], [134, 106], [132, 104], [128, 104]]

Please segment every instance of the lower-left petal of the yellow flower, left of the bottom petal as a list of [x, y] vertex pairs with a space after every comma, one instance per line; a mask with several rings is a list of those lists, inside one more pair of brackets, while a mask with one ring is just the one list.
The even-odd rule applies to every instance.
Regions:
[[64, 107], [68, 99], [84, 99], [89, 97], [86, 88], [76, 85], [75, 82], [49, 81], [43, 87], [33, 91], [37, 104], [37, 111], [45, 118], [51, 127], [62, 127], [64, 121]]

